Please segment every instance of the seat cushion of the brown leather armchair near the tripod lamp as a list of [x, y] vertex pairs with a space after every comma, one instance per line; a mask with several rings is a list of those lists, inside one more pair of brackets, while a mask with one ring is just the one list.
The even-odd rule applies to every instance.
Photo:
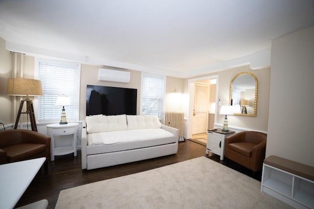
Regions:
[[45, 152], [46, 149], [46, 144], [33, 143], [16, 144], [2, 148], [6, 152], [8, 163], [23, 161], [41, 152]]

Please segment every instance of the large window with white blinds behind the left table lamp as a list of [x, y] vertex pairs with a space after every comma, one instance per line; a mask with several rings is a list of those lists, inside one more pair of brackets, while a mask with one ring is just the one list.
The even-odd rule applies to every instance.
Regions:
[[38, 79], [43, 96], [38, 97], [38, 121], [60, 121], [62, 107], [55, 106], [58, 95], [70, 96], [65, 107], [67, 121], [77, 121], [79, 111], [80, 65], [77, 63], [39, 60]]

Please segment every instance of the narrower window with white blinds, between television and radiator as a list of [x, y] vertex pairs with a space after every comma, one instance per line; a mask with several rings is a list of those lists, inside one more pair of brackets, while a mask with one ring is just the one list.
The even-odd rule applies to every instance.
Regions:
[[141, 115], [157, 115], [161, 119], [165, 95], [165, 76], [143, 73], [141, 94]]

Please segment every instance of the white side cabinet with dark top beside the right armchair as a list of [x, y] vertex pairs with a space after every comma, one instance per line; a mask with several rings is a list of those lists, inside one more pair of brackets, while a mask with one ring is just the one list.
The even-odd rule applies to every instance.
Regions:
[[224, 132], [219, 128], [217, 130], [208, 130], [206, 154], [208, 155], [210, 151], [216, 155], [219, 155], [221, 161], [224, 160], [225, 139], [234, 133], [234, 131]]

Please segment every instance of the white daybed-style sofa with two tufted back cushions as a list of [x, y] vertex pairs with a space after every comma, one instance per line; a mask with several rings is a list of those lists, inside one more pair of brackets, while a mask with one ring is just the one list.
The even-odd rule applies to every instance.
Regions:
[[157, 116], [86, 116], [81, 138], [82, 169], [95, 169], [175, 154], [178, 129]]

